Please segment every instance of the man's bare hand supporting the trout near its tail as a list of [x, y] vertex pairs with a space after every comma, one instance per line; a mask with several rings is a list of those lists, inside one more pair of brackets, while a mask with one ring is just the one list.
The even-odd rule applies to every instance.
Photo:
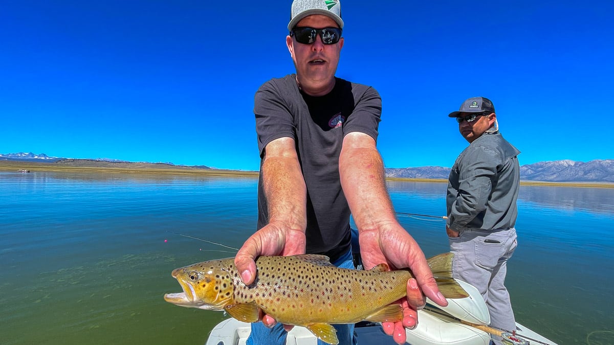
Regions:
[[415, 277], [407, 282], [407, 298], [400, 300], [403, 320], [382, 323], [387, 335], [392, 335], [398, 344], [405, 343], [405, 327], [414, 328], [418, 324], [418, 310], [426, 304], [424, 295], [440, 306], [447, 306], [448, 301], [439, 292], [418, 243], [398, 222], [391, 222], [376, 230], [360, 231], [359, 242], [365, 269], [387, 263], [391, 269], [410, 268]]

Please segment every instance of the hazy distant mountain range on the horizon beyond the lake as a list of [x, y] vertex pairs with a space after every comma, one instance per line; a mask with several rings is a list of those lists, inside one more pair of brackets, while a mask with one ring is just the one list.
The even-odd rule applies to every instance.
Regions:
[[[96, 159], [72, 159], [49, 157], [45, 153], [6, 153], [0, 154], [0, 160], [12, 161], [39, 161], [46, 163], [60, 163], [63, 165], [76, 166], [117, 166], [135, 165], [130, 161], [113, 160], [109, 158]], [[173, 163], [147, 163], [139, 162], [139, 165], [169, 165]], [[179, 165], [181, 166], [181, 165]], [[206, 165], [192, 166], [192, 168], [214, 169]], [[401, 177], [406, 179], [448, 179], [450, 168], [443, 166], [420, 166], [418, 168], [386, 168], [386, 177]], [[520, 167], [520, 178], [529, 181], [547, 182], [614, 182], [614, 160], [592, 160], [588, 162], [557, 160], [540, 161], [538, 163], [523, 165]]]

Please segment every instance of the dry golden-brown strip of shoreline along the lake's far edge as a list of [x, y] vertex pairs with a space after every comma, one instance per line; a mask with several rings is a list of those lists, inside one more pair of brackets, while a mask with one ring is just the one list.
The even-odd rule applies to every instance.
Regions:
[[[93, 163], [95, 162], [95, 163]], [[115, 163], [106, 161], [82, 161], [79, 165], [41, 163], [41, 162], [20, 162], [0, 160], [0, 171], [15, 172], [20, 169], [50, 172], [106, 172], [112, 174], [164, 174], [164, 175], [190, 175], [190, 176], [216, 176], [216, 177], [258, 177], [258, 171], [241, 171], [227, 169], [203, 169], [193, 166], [176, 166], [160, 163]], [[106, 165], [106, 166], [96, 166]], [[436, 182], [447, 183], [447, 179], [410, 179], [404, 177], [386, 177], [388, 181], [398, 182]], [[610, 182], [547, 182], [521, 180], [520, 185], [545, 186], [545, 187], [582, 187], [582, 188], [614, 188], [614, 183]]]

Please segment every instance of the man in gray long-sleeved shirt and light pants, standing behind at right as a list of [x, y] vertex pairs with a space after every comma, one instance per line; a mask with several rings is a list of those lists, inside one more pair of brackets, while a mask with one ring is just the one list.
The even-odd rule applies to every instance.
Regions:
[[480, 290], [492, 326], [514, 331], [514, 312], [503, 282], [507, 260], [516, 249], [520, 151], [499, 133], [488, 98], [469, 98], [449, 117], [456, 117], [469, 142], [454, 162], [446, 195], [453, 276]]

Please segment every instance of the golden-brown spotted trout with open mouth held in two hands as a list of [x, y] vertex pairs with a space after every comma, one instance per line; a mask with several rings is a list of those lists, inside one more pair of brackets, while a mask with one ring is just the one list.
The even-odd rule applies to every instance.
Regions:
[[[467, 293], [452, 278], [452, 253], [429, 258], [429, 266], [446, 298]], [[278, 322], [306, 327], [317, 338], [338, 344], [330, 324], [362, 320], [397, 322], [403, 317], [400, 304], [406, 295], [408, 269], [387, 271], [386, 264], [369, 271], [337, 268], [324, 255], [259, 257], [257, 275], [243, 284], [235, 258], [211, 260], [177, 268], [172, 275], [184, 292], [167, 293], [164, 299], [178, 306], [223, 310], [244, 322], [257, 322], [262, 309]]]

